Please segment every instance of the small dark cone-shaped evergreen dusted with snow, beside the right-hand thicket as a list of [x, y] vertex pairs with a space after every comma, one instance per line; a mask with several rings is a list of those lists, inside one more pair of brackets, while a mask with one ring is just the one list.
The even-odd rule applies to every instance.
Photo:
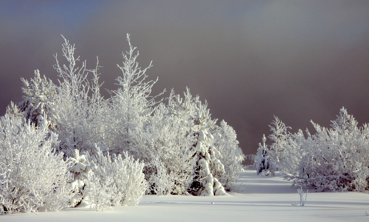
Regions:
[[265, 145], [265, 135], [263, 135], [263, 145], [259, 143], [258, 152], [254, 159], [254, 167], [257, 175], [269, 176], [275, 175], [275, 171], [278, 170], [273, 158], [269, 155], [268, 146]]

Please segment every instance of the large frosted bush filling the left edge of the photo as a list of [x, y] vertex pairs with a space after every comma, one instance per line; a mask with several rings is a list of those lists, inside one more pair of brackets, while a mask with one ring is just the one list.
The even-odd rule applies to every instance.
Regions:
[[[11, 110], [17, 110], [12, 106]], [[46, 115], [43, 119], [47, 119]], [[67, 207], [73, 196], [68, 183], [70, 162], [55, 151], [57, 135], [48, 132], [45, 122], [38, 123], [35, 127], [10, 113], [0, 119], [2, 214], [58, 211]]]

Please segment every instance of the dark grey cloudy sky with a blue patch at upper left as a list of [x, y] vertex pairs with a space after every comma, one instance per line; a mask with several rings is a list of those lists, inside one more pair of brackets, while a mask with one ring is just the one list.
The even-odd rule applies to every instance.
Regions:
[[[115, 89], [126, 33], [152, 60], [154, 94], [189, 87], [256, 153], [273, 115], [329, 126], [344, 106], [369, 122], [369, 1], [0, 1], [0, 114], [35, 69], [56, 82], [61, 34]], [[168, 96], [169, 93], [166, 94]]]

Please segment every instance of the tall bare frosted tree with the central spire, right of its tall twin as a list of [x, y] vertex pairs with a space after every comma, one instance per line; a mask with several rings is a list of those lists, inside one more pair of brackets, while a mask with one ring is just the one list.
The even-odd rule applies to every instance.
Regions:
[[111, 138], [108, 146], [113, 153], [136, 149], [132, 143], [132, 138], [135, 137], [132, 132], [148, 121], [154, 105], [161, 101], [155, 101], [155, 98], [163, 94], [151, 96], [151, 89], [158, 78], [147, 81], [146, 71], [151, 63], [141, 69], [136, 61], [139, 53], [135, 53], [136, 47], [131, 45], [129, 34], [127, 41], [130, 49], [122, 53], [123, 65], [117, 65], [122, 71], [116, 79], [119, 88], [110, 92], [111, 111], [106, 114], [110, 125], [108, 137]]

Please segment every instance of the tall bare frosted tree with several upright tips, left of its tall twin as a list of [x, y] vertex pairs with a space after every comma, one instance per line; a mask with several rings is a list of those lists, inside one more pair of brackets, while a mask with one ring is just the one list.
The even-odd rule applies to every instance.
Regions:
[[[100, 95], [99, 65], [95, 69], [87, 69], [86, 61], [79, 64], [79, 56], [75, 57], [75, 45], [64, 38], [61, 64], [55, 55], [54, 69], [60, 78], [53, 98], [55, 131], [59, 135], [60, 150], [72, 156], [75, 149], [93, 152], [94, 143], [104, 139], [104, 113], [108, 108], [107, 101]], [[92, 77], [92, 80], [89, 78]]]

